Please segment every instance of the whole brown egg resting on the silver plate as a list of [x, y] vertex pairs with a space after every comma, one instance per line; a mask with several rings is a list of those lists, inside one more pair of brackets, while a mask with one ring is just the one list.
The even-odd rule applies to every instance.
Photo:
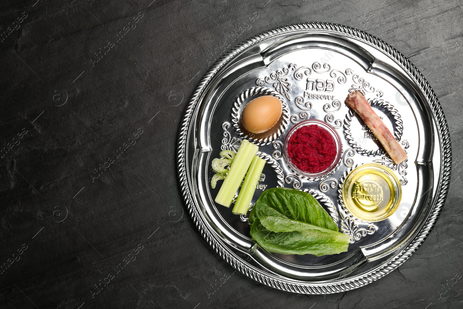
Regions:
[[269, 131], [282, 115], [282, 101], [273, 95], [260, 96], [250, 101], [241, 113], [241, 122], [252, 133]]

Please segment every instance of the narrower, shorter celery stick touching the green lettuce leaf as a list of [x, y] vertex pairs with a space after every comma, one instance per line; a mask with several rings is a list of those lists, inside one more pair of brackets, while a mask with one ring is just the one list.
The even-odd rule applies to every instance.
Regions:
[[239, 191], [238, 200], [233, 207], [233, 214], [247, 214], [249, 204], [254, 196], [254, 191], [256, 191], [257, 183], [261, 177], [263, 166], [265, 165], [265, 160], [254, 156], [249, 167], [246, 178], [244, 178], [243, 186]]

